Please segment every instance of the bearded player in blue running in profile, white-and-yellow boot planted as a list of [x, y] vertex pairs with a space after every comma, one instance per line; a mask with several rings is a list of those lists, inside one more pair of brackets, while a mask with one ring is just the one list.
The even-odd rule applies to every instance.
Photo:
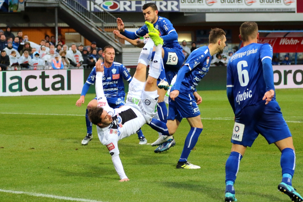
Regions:
[[203, 129], [198, 107], [202, 98], [198, 95], [196, 86], [207, 74], [211, 56], [217, 52], [223, 52], [225, 42], [225, 32], [222, 29], [211, 29], [209, 45], [195, 49], [177, 74], [176, 83], [170, 90], [167, 123], [152, 119], [149, 124], [153, 129], [163, 134], [156, 141], [156, 144], [161, 144], [166, 141], [168, 136], [172, 136], [176, 132], [183, 118], [187, 119], [191, 128], [185, 139], [177, 168], [200, 168], [200, 166], [187, 162], [188, 156]]

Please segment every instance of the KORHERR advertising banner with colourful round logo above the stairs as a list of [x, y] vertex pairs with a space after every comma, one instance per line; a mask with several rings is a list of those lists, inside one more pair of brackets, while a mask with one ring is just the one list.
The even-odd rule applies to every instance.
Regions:
[[130, 1], [130, 0], [77, 0], [89, 11], [94, 12], [142, 12], [142, 6], [146, 3], [155, 3], [158, 11], [179, 12], [179, 0], [157, 0], [157, 1]]

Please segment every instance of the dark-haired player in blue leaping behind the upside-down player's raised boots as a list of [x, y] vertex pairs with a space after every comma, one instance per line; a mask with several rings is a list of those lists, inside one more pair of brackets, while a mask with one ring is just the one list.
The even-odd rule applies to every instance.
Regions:
[[[172, 79], [177, 74], [178, 70], [183, 64], [185, 59], [182, 53], [182, 47], [178, 43], [178, 34], [174, 29], [172, 23], [167, 18], [158, 16], [158, 8], [154, 3], [146, 3], [142, 6], [142, 12], [144, 19], [146, 21], [145, 25], [139, 28], [135, 32], [130, 32], [124, 29], [124, 23], [120, 18], [117, 18], [117, 28], [119, 31], [115, 30], [114, 34], [118, 37], [122, 34], [125, 40], [131, 42], [133, 45], [138, 47], [143, 47], [143, 41], [137, 40], [139, 37], [143, 37], [149, 32], [158, 33], [163, 39], [163, 47], [161, 50], [161, 55], [163, 58], [164, 71], [158, 79], [158, 87], [163, 89], [158, 89], [159, 100], [157, 104], [157, 110], [159, 119], [162, 122], [167, 121], [167, 108], [165, 105], [164, 97], [166, 90], [169, 88]], [[144, 45], [144, 44], [143, 44]], [[147, 63], [148, 64], [148, 63]], [[172, 143], [173, 137], [168, 137], [166, 145], [170, 142]], [[164, 144], [164, 143], [163, 143]], [[156, 146], [152, 144], [152, 146]], [[156, 151], [156, 150], [155, 150]]]

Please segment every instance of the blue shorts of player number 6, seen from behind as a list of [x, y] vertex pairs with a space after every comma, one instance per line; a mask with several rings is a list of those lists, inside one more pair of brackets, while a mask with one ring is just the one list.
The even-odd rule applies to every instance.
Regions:
[[231, 142], [251, 147], [259, 134], [268, 144], [292, 136], [277, 101], [243, 108], [236, 117]]

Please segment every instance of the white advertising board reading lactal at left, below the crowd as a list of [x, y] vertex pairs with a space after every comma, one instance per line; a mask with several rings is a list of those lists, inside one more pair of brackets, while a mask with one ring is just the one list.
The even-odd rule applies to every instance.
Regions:
[[0, 96], [81, 94], [83, 70], [0, 72]]

